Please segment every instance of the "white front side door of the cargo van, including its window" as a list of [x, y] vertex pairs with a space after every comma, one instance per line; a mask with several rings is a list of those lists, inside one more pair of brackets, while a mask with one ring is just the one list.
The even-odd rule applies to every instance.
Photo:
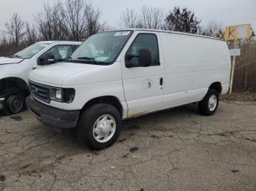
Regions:
[[[128, 117], [135, 117], [160, 108], [164, 66], [160, 53], [162, 51], [159, 48], [162, 46], [157, 33], [135, 31], [131, 38], [126, 50], [124, 49], [121, 70]], [[140, 50], [149, 50], [150, 66], [140, 66], [138, 59]]]

